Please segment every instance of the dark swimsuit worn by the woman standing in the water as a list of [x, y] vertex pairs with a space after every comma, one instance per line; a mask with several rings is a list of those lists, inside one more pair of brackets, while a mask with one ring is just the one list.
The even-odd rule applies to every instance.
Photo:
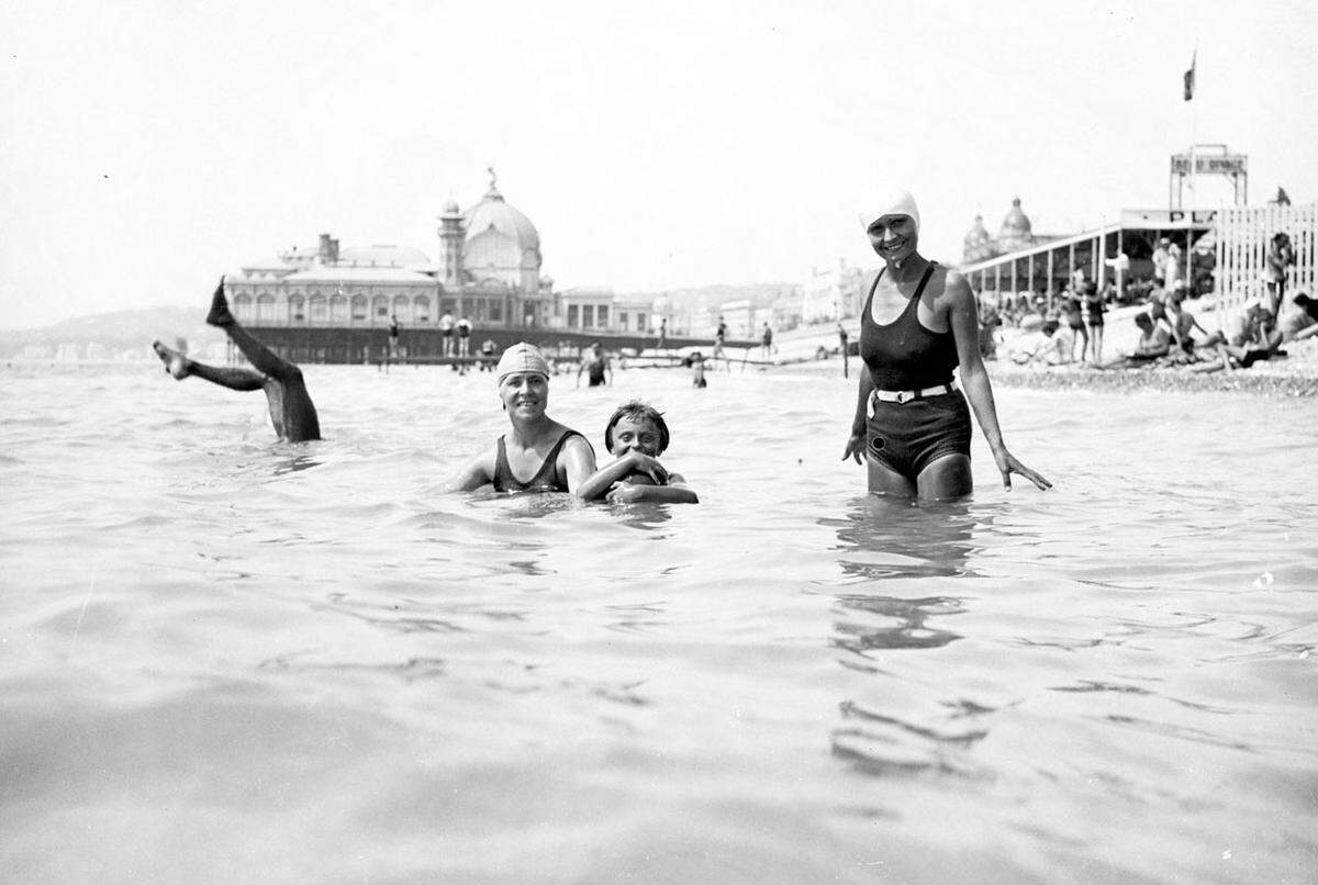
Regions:
[[[919, 391], [952, 383], [957, 367], [957, 342], [952, 329], [931, 332], [920, 324], [924, 287], [933, 275], [931, 262], [905, 309], [887, 325], [874, 321], [874, 278], [861, 315], [861, 358], [870, 370], [875, 390]], [[871, 398], [873, 415], [866, 423], [866, 450], [875, 462], [912, 482], [937, 458], [970, 457], [970, 410], [960, 390], [917, 396], [904, 403]]]

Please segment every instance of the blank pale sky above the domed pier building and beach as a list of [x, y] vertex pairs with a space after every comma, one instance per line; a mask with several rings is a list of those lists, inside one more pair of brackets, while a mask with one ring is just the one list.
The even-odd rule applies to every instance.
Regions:
[[322, 232], [435, 257], [490, 165], [560, 288], [873, 265], [855, 216], [888, 182], [957, 261], [1017, 195], [1036, 233], [1165, 208], [1191, 140], [1249, 155], [1251, 201], [1307, 203], [1315, 9], [0, 0], [0, 328], [203, 304]]

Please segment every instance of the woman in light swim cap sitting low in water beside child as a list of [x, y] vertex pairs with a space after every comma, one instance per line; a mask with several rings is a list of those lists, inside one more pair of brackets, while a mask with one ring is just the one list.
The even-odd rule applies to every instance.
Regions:
[[494, 381], [510, 432], [463, 465], [445, 490], [493, 486], [501, 493], [576, 493], [594, 473], [594, 449], [585, 436], [546, 414], [550, 363], [544, 354], [530, 344], [514, 344], [500, 358]]

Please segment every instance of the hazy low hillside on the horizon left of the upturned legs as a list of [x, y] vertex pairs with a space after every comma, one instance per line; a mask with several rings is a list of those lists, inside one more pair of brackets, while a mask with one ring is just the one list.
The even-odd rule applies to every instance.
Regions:
[[224, 341], [223, 332], [206, 325], [204, 307], [148, 307], [75, 316], [41, 329], [0, 331], [0, 358], [22, 356], [32, 348], [55, 350], [67, 345], [80, 352], [87, 345], [111, 353], [130, 352], [149, 346], [153, 338], [173, 344], [177, 337], [187, 338], [190, 346]]

